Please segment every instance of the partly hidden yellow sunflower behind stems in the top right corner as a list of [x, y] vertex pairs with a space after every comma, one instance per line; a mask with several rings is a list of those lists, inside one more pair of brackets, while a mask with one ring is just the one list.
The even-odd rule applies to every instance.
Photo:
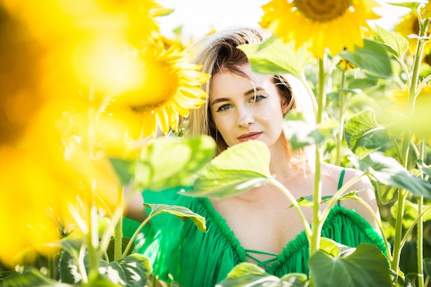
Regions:
[[[431, 24], [428, 25], [428, 31], [430, 31], [430, 28], [431, 28]], [[409, 35], [419, 34], [419, 19], [417, 18], [417, 14], [411, 11], [410, 13], [403, 15], [399, 23], [395, 25], [394, 32], [399, 33], [401, 36], [406, 38], [406, 40], [408, 40], [408, 52], [410, 55], [414, 55], [414, 53], [416, 53], [417, 40], [410, 39]], [[424, 55], [430, 54], [430, 49], [431, 49], [431, 43], [427, 42], [423, 46], [423, 54]]]

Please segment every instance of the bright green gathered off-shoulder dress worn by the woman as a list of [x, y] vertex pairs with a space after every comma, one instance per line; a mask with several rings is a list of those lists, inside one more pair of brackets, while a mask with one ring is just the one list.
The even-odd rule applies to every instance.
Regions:
[[[207, 232], [203, 233], [191, 220], [182, 222], [168, 213], [156, 215], [136, 237], [134, 252], [148, 257], [153, 273], [163, 281], [178, 281], [183, 287], [213, 287], [225, 279], [235, 265], [260, 253], [241, 246], [207, 198], [179, 195], [178, 189], [144, 191], [143, 197], [147, 203], [185, 206], [206, 218]], [[124, 236], [132, 237], [139, 224], [125, 218]], [[386, 254], [381, 235], [361, 215], [342, 206], [331, 209], [324, 222], [322, 236], [350, 247], [368, 242]], [[287, 273], [308, 274], [308, 248], [303, 231], [286, 244], [281, 254], [273, 254], [273, 259], [258, 265], [277, 277]]]

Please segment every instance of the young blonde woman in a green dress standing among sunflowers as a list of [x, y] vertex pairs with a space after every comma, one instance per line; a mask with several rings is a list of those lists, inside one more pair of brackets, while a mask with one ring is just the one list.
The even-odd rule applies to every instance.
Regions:
[[[284, 136], [283, 117], [296, 109], [314, 123], [311, 100], [292, 76], [253, 73], [246, 55], [236, 48], [262, 43], [269, 36], [260, 28], [232, 28], [197, 44], [196, 63], [211, 74], [203, 87], [209, 98], [204, 107], [191, 111], [185, 119], [185, 131], [187, 136], [212, 136], [219, 153], [246, 140], [261, 140], [271, 151], [271, 174], [299, 198], [313, 193], [314, 156], [307, 149], [291, 151]], [[324, 163], [322, 194], [336, 193], [343, 182], [359, 174]], [[368, 178], [361, 178], [351, 190], [362, 190], [361, 198], [378, 212]], [[269, 184], [224, 200], [191, 198], [178, 195], [176, 189], [144, 191], [143, 200], [186, 206], [207, 220], [206, 233], [190, 220], [182, 222], [173, 215], [151, 220], [143, 238], [136, 241], [135, 251], [151, 258], [159, 279], [173, 279], [185, 287], [215, 286], [240, 262], [253, 262], [278, 277], [308, 274], [309, 245], [304, 226], [297, 211], [287, 208], [291, 202], [286, 195]], [[143, 220], [142, 203], [142, 198], [134, 203], [138, 215], [130, 206], [129, 217]], [[312, 222], [312, 209], [303, 211]], [[370, 242], [384, 252], [376, 226], [359, 202], [343, 200], [331, 210], [322, 236], [351, 247]]]

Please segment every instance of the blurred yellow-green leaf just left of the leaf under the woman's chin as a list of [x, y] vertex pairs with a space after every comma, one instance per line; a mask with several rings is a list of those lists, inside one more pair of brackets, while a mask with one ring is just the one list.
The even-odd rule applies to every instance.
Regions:
[[214, 154], [215, 141], [210, 136], [151, 140], [136, 162], [136, 187], [159, 191], [190, 186]]

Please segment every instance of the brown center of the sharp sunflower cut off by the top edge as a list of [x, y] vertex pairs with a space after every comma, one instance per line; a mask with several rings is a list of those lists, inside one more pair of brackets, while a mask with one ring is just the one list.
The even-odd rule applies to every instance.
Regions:
[[353, 0], [295, 0], [295, 6], [308, 19], [328, 22], [342, 16]]

